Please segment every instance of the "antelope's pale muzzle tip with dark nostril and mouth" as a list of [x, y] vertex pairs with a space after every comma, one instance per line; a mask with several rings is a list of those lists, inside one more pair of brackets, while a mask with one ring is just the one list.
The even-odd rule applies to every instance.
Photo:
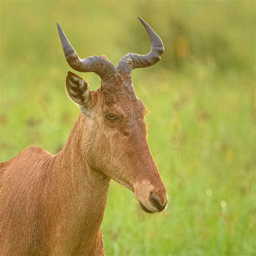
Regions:
[[164, 211], [167, 205], [166, 187], [163, 183], [154, 187], [149, 181], [137, 183], [134, 193], [139, 200], [140, 207], [148, 213]]

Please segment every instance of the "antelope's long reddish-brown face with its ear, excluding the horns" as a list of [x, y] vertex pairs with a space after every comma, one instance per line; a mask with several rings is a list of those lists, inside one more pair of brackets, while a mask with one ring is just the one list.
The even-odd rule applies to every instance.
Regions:
[[147, 143], [146, 109], [122, 83], [119, 77], [113, 87], [90, 92], [82, 78], [68, 72], [66, 91], [85, 115], [84, 156], [93, 169], [133, 191], [144, 211], [163, 211], [166, 188]]

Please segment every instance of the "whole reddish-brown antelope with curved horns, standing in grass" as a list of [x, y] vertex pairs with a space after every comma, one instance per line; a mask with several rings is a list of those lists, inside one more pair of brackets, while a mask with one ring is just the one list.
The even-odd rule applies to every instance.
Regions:
[[164, 186], [147, 143], [145, 106], [131, 71], [157, 63], [163, 43], [142, 19], [151, 41], [147, 55], [128, 53], [115, 67], [105, 56], [80, 59], [57, 23], [66, 61], [95, 72], [100, 88], [75, 73], [66, 92], [79, 109], [62, 151], [30, 146], [1, 170], [1, 255], [105, 255], [100, 225], [110, 180], [131, 190], [147, 213], [164, 211]]

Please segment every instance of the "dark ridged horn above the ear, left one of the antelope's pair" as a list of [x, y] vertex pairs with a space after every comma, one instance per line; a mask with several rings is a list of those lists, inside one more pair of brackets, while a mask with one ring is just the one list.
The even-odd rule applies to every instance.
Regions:
[[57, 23], [57, 27], [66, 61], [71, 68], [80, 72], [95, 72], [104, 84], [111, 83], [115, 80], [116, 68], [114, 68], [114, 65], [105, 56], [92, 56], [80, 59], [68, 38], [66, 38], [59, 23]]

